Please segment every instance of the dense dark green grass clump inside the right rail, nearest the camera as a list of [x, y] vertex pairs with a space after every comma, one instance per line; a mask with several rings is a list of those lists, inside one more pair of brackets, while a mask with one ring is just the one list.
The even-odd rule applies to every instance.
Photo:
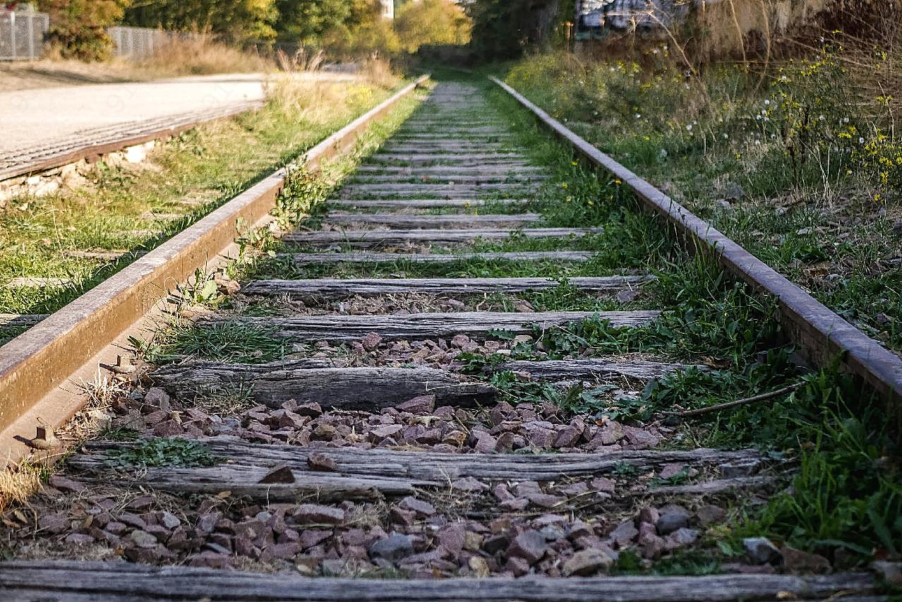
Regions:
[[803, 548], [844, 548], [859, 559], [899, 554], [902, 473], [886, 416], [869, 409], [872, 400], [847, 375], [823, 370], [804, 382], [793, 400], [809, 410], [807, 418], [792, 419], [801, 449], [796, 476], [742, 533], [768, 533]]

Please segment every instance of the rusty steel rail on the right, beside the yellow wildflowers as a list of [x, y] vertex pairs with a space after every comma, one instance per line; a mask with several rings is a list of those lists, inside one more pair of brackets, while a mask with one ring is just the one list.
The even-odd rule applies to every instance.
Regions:
[[836, 357], [851, 373], [861, 376], [879, 394], [893, 403], [902, 402], [902, 359], [879, 342], [843, 320], [758, 257], [751, 255], [731, 238], [668, 197], [648, 181], [602, 153], [579, 135], [571, 132], [514, 88], [490, 78], [520, 105], [538, 118], [577, 153], [597, 167], [609, 171], [645, 204], [664, 218], [696, 248], [713, 251], [727, 270], [748, 282], [756, 291], [773, 295], [779, 303], [778, 320], [803, 355], [817, 366], [826, 366]]

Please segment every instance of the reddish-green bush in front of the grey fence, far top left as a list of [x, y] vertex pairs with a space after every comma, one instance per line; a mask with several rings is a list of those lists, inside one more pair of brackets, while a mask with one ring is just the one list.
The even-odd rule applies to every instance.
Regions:
[[49, 39], [67, 59], [105, 60], [113, 50], [106, 28], [122, 18], [131, 0], [40, 0], [50, 14]]

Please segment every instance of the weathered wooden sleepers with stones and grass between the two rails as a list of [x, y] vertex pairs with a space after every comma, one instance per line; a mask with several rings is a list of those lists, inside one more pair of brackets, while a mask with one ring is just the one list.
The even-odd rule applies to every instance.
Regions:
[[[552, 352], [549, 336], [654, 327], [667, 308], [639, 309], [649, 273], [543, 277], [591, 265], [603, 232], [534, 211], [553, 174], [508, 124], [483, 88], [438, 84], [318, 230], [283, 236], [220, 309], [161, 329], [148, 365], [114, 366], [140, 386], [105, 390], [106, 438], [51, 477], [36, 523], [5, 515], [0, 594], [880, 599], [869, 573], [756, 538], [720, 574], [608, 576], [698, 561], [731, 507], [792, 468], [680, 444], [672, 417], [549, 401], [630, 403], [710, 366], [579, 337]], [[588, 309], [538, 307], [556, 292]]]

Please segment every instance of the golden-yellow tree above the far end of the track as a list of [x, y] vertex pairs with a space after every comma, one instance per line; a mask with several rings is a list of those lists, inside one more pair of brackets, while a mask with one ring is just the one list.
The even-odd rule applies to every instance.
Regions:
[[394, 27], [401, 49], [413, 53], [420, 46], [466, 44], [473, 23], [464, 9], [450, 0], [422, 0], [402, 5]]

